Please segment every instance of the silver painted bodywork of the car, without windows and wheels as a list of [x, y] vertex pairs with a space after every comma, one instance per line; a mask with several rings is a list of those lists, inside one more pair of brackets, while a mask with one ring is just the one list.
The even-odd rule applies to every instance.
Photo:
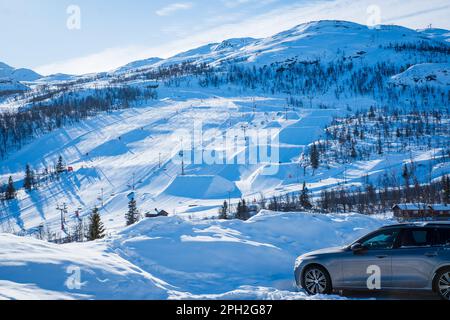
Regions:
[[[450, 223], [433, 225], [435, 228], [450, 228]], [[402, 224], [381, 228], [359, 241], [376, 235], [386, 228], [422, 230], [428, 224]], [[400, 240], [400, 234], [397, 236]], [[391, 249], [371, 249], [354, 252], [351, 246], [328, 248], [300, 256], [295, 265], [295, 279], [302, 287], [302, 276], [312, 265], [324, 267], [331, 278], [335, 290], [369, 290], [367, 280], [373, 266], [381, 271], [381, 290], [431, 291], [433, 280], [439, 269], [450, 267], [450, 243], [422, 247], [393, 247]]]

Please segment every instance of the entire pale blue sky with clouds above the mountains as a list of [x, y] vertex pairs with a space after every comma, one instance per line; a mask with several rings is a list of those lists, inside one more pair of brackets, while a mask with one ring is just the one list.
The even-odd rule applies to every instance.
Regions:
[[[43, 74], [107, 71], [231, 37], [264, 37], [319, 19], [450, 29], [450, 0], [0, 0], [0, 61]], [[67, 8], [80, 8], [69, 30]]]

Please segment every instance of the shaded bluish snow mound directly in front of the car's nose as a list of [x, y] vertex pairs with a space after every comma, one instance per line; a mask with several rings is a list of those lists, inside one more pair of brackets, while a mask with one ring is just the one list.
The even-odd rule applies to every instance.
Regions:
[[143, 221], [113, 246], [124, 259], [175, 286], [173, 298], [281, 298], [281, 292], [302, 298], [293, 294], [299, 255], [348, 244], [383, 223], [358, 214], [269, 211], [246, 222], [170, 217]]

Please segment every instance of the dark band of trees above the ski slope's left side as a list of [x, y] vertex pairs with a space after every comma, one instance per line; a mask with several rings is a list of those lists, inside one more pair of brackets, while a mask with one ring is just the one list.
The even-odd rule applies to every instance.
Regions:
[[68, 92], [48, 100], [36, 96], [16, 111], [0, 113], [0, 158], [20, 149], [30, 140], [63, 126], [80, 122], [100, 112], [127, 109], [133, 101], [157, 99], [155, 89], [106, 87]]

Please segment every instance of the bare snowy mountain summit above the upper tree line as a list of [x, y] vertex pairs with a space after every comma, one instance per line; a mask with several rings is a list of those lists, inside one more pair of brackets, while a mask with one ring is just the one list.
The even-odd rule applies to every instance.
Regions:
[[[147, 66], [159, 67], [182, 62], [209, 63], [252, 63], [268, 65], [292, 60], [323, 61], [341, 56], [376, 63], [383, 59], [401, 59], [400, 54], [384, 50], [392, 43], [417, 43], [418, 41], [446, 41], [449, 31], [427, 29], [415, 31], [400, 26], [369, 28], [347, 21], [324, 20], [296, 26], [265, 39], [229, 39], [212, 43], [178, 54], [172, 58]], [[387, 55], [388, 54], [388, 55]], [[136, 62], [142, 66], [140, 62]], [[132, 65], [132, 64], [131, 64]]]

